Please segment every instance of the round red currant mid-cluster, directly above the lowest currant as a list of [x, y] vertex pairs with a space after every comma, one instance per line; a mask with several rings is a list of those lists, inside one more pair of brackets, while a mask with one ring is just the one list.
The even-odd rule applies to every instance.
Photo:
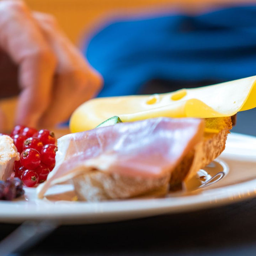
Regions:
[[21, 153], [21, 164], [27, 169], [35, 169], [40, 164], [40, 154], [36, 149], [25, 149]]

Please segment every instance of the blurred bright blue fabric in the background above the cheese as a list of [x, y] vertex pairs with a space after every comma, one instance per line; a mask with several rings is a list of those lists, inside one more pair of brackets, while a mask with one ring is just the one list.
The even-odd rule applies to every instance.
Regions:
[[98, 32], [84, 54], [103, 75], [100, 97], [136, 94], [151, 79], [255, 75], [256, 6], [119, 21]]

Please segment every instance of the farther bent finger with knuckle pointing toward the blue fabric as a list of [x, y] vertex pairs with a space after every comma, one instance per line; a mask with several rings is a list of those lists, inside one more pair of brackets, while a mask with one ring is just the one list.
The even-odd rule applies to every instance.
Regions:
[[102, 85], [101, 76], [85, 62], [80, 52], [59, 30], [52, 17], [34, 13], [58, 58], [53, 98], [41, 119], [46, 125], [67, 120], [82, 102], [94, 97]]

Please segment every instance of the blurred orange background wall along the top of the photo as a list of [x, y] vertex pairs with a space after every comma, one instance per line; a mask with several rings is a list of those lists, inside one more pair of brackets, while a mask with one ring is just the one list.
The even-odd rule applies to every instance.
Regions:
[[[198, 11], [211, 5], [245, 3], [247, 0], [25, 0], [33, 10], [57, 17], [60, 26], [74, 43], [83, 33], [93, 31], [107, 16], [129, 16], [145, 12], [170, 12], [172, 9]], [[255, 2], [252, 1], [252, 2]]]

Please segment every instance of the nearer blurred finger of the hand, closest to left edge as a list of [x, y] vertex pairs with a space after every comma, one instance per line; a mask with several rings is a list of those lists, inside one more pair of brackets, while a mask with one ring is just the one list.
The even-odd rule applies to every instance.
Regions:
[[0, 47], [18, 64], [16, 123], [36, 126], [50, 102], [55, 57], [21, 1], [0, 2]]

